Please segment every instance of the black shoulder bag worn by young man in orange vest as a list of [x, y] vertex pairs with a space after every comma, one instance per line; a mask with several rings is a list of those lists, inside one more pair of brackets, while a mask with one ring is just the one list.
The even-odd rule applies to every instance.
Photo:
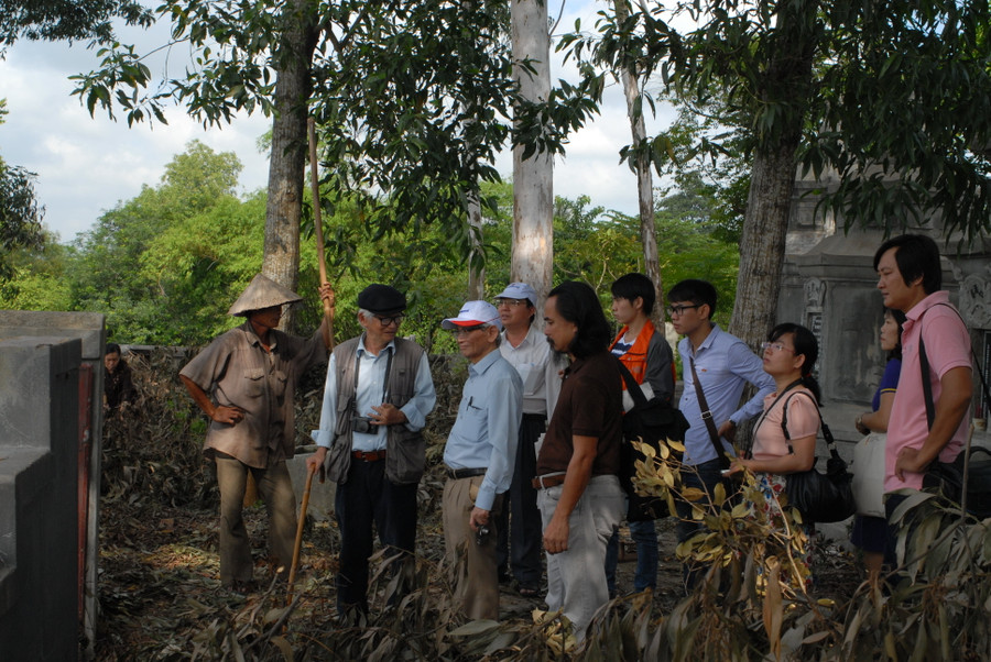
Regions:
[[636, 461], [646, 460], [646, 455], [633, 448], [631, 442], [642, 441], [660, 451], [661, 444], [671, 439], [685, 440], [688, 420], [680, 410], [667, 400], [653, 397], [650, 400], [640, 389], [640, 384], [622, 361], [617, 360], [627, 391], [633, 398], [633, 408], [623, 415], [623, 444], [620, 446], [620, 483], [629, 497], [627, 521], [646, 521], [666, 517], [667, 503], [655, 496], [643, 496], [636, 493], [633, 477], [636, 475]]

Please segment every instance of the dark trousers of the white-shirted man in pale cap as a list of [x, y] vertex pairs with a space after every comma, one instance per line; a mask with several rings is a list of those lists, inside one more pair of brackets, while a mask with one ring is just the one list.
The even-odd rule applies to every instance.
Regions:
[[[513, 482], [497, 516], [496, 564], [500, 574], [512, 576], [527, 588], [541, 587], [541, 541], [544, 529], [536, 506], [536, 453], [534, 444], [544, 432], [544, 417], [523, 415]], [[512, 519], [510, 519], [512, 512]]]

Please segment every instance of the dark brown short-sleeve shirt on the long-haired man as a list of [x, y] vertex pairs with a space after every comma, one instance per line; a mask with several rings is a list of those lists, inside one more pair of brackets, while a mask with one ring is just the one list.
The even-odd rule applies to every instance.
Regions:
[[565, 371], [560, 397], [537, 457], [538, 476], [567, 471], [575, 452], [575, 434], [599, 440], [593, 476], [619, 473], [623, 401], [617, 363], [612, 354], [603, 351], [576, 360]]

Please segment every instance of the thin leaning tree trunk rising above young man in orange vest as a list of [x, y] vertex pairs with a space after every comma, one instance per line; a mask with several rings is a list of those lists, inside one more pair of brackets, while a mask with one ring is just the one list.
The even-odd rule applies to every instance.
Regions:
[[[629, 16], [630, 11], [627, 7], [627, 0], [616, 0], [617, 21], [622, 23]], [[627, 117], [630, 118], [630, 133], [633, 136], [633, 144], [636, 146], [646, 145], [646, 128], [643, 122], [643, 107], [638, 108], [638, 101], [641, 100], [640, 85], [638, 82], [636, 70], [634, 67], [624, 67], [621, 77], [623, 81], [623, 92], [627, 96]], [[654, 293], [656, 294], [656, 302], [651, 313], [651, 321], [658, 331], [664, 331], [664, 283], [661, 278], [661, 262], [657, 256], [657, 230], [654, 225], [654, 178], [651, 173], [651, 159], [647, 153], [638, 152], [636, 163], [636, 192], [640, 202], [640, 242], [643, 244], [643, 271], [651, 283], [654, 284]]]

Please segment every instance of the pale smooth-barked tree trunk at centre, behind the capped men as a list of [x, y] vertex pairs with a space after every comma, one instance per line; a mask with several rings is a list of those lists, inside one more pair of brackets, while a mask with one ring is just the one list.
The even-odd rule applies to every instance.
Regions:
[[[513, 0], [513, 58], [529, 59], [531, 74], [520, 65], [513, 76], [521, 95], [546, 101], [551, 93], [551, 34], [545, 0]], [[529, 284], [543, 300], [551, 291], [554, 267], [554, 162], [549, 153], [523, 159], [513, 150], [513, 250], [511, 278]]]

